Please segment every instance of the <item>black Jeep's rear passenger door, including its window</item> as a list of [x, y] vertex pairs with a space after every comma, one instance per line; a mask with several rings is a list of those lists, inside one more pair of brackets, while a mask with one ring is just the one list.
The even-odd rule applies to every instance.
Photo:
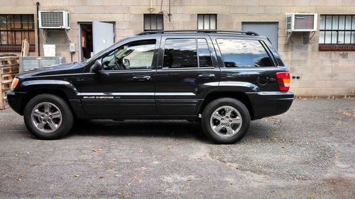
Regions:
[[196, 115], [217, 89], [219, 66], [208, 35], [163, 35], [155, 83], [159, 115]]

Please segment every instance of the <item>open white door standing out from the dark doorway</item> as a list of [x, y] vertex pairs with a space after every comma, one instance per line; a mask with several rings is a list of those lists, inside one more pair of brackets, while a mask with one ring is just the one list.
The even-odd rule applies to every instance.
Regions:
[[92, 22], [93, 54], [97, 54], [114, 44], [114, 24], [99, 21]]

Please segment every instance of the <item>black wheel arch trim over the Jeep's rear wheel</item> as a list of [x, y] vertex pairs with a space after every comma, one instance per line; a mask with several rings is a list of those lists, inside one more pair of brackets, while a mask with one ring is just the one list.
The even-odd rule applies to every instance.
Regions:
[[249, 97], [246, 95], [246, 93], [241, 91], [215, 91], [209, 93], [204, 98], [204, 101], [202, 101], [202, 104], [200, 105], [197, 114], [201, 114], [204, 108], [207, 106], [207, 104], [210, 103], [211, 101], [214, 101], [217, 98], [235, 98], [241, 101], [241, 103], [244, 103], [246, 108], [248, 108], [251, 119], [253, 120], [254, 115], [253, 115], [253, 107], [251, 106], [251, 101], [249, 100]]

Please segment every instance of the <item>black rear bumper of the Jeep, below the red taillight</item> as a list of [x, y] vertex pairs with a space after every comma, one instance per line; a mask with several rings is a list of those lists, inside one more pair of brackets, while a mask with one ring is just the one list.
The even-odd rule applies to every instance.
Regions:
[[291, 92], [251, 92], [247, 93], [253, 108], [253, 119], [265, 118], [285, 113], [293, 102]]

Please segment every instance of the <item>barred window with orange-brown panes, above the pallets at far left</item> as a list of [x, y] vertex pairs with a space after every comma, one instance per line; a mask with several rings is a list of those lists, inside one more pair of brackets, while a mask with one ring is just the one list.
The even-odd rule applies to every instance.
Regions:
[[21, 46], [22, 40], [35, 44], [35, 27], [32, 14], [0, 14], [0, 45]]

